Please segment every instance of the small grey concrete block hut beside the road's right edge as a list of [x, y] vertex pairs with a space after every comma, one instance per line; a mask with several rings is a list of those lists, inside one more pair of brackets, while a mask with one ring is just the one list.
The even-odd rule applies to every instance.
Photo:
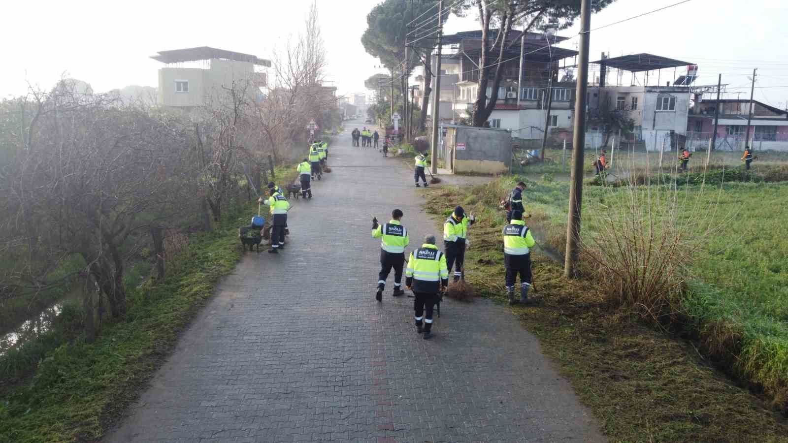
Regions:
[[[511, 163], [511, 132], [501, 129], [458, 126], [450, 151], [454, 151], [455, 173], [505, 173]], [[465, 143], [465, 149], [455, 149]]]

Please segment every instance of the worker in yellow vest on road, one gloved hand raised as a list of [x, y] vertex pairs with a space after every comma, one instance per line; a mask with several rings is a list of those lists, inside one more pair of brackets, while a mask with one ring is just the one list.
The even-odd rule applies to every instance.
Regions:
[[401, 296], [402, 270], [405, 265], [405, 248], [410, 240], [407, 238], [407, 229], [400, 224], [402, 211], [392, 210], [392, 219], [383, 225], [377, 225], [377, 218], [372, 218], [372, 237], [381, 239], [381, 272], [377, 274], [377, 292], [375, 300], [381, 301], [383, 290], [386, 287], [388, 273], [394, 268], [394, 293]]

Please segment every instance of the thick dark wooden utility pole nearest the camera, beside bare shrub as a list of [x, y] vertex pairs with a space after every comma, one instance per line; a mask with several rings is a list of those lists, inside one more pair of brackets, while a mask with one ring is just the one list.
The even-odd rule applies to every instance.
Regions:
[[574, 94], [574, 139], [572, 140], [572, 183], [569, 188], [569, 218], [567, 220], [567, 249], [563, 275], [577, 276], [580, 244], [580, 213], [583, 194], [583, 155], [585, 154], [585, 93], [588, 90], [589, 41], [591, 35], [591, 2], [580, 3], [580, 64], [578, 86]]

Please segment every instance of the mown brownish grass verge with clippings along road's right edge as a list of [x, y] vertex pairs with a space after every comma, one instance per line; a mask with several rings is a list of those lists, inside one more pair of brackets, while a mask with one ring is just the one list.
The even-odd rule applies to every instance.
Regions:
[[[440, 221], [451, 210], [447, 202], [479, 215], [470, 232], [467, 278], [482, 295], [501, 302], [504, 214], [495, 205], [508, 180], [435, 189], [427, 203]], [[541, 231], [537, 240], [556, 249], [566, 231], [563, 188], [530, 183], [526, 191], [526, 207], [535, 214], [529, 225]], [[788, 441], [788, 425], [771, 408], [771, 398], [731, 381], [694, 342], [655, 330], [611, 304], [592, 282], [565, 280], [563, 266], [540, 252], [534, 257], [534, 290], [544, 300], [511, 311], [540, 338], [545, 354], [559, 363], [612, 441]]]

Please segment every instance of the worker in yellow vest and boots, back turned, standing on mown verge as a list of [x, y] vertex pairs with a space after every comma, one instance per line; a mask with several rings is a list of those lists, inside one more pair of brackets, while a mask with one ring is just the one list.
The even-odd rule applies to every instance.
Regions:
[[515, 281], [520, 274], [519, 303], [530, 304], [528, 289], [531, 286], [531, 250], [536, 241], [522, 221], [522, 212], [512, 211], [511, 222], [504, 227], [504, 264], [506, 266], [506, 293], [509, 304], [515, 300]]

